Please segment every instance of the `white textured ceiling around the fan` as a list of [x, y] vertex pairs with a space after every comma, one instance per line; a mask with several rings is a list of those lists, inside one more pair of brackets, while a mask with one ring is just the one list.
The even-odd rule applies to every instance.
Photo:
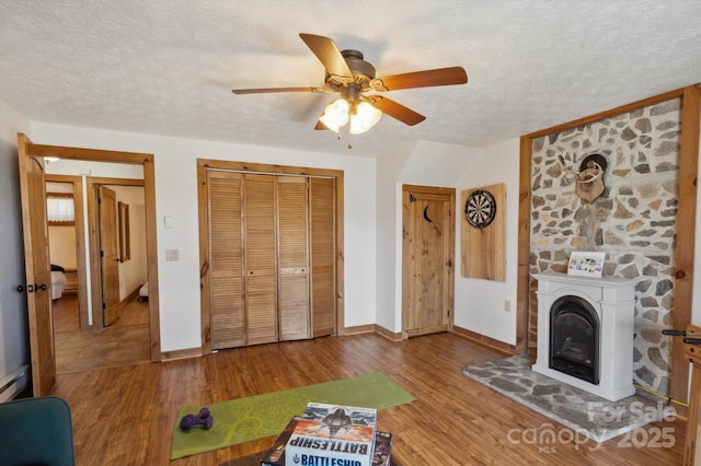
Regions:
[[[377, 74], [461, 66], [467, 85], [394, 91], [354, 149], [314, 131], [330, 94], [299, 33]], [[698, 0], [0, 0], [0, 98], [32, 120], [377, 156], [486, 147], [701, 81]], [[1, 116], [0, 116], [1, 117]]]

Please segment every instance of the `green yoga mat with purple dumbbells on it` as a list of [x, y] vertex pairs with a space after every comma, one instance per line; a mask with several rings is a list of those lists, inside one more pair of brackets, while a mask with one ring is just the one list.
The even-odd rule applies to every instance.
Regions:
[[301, 415], [310, 401], [382, 409], [415, 399], [387, 375], [375, 372], [208, 405], [215, 420], [209, 430], [180, 429], [183, 416], [197, 413], [202, 408], [187, 406], [177, 411], [171, 459], [278, 435], [290, 418]]

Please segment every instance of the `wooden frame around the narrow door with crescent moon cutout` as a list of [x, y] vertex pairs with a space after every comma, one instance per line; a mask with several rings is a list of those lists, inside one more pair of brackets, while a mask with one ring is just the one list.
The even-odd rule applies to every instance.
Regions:
[[[450, 202], [450, 218], [448, 220], [448, 318], [447, 330], [452, 331], [455, 324], [455, 284], [456, 284], [456, 188], [445, 188], [436, 186], [421, 185], [402, 185], [402, 339], [409, 338], [409, 314], [410, 305], [414, 300], [414, 260], [412, 254], [413, 241], [413, 221], [414, 217], [410, 214], [410, 206], [406, 202], [411, 193], [421, 193], [422, 195], [440, 195], [448, 196]], [[422, 212], [423, 213], [423, 212]]]

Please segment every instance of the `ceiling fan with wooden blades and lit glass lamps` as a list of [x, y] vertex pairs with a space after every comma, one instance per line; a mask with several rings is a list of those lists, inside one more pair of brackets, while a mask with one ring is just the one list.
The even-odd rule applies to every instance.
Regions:
[[461, 67], [440, 68], [375, 77], [375, 67], [364, 60], [358, 50], [341, 50], [329, 37], [300, 34], [301, 39], [319, 58], [326, 71], [324, 88], [267, 88], [234, 89], [234, 94], [261, 94], [272, 92], [338, 93], [341, 97], [326, 106], [314, 129], [331, 129], [340, 132], [348, 123], [352, 135], [365, 132], [380, 118], [382, 113], [414, 126], [425, 116], [390, 98], [367, 92], [388, 92], [401, 89], [429, 88], [436, 85], [466, 84], [468, 74]]

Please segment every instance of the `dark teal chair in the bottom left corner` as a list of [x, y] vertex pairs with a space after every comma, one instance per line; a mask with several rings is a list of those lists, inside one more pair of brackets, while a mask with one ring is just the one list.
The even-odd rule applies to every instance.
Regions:
[[73, 424], [56, 396], [0, 404], [0, 464], [73, 466]]

